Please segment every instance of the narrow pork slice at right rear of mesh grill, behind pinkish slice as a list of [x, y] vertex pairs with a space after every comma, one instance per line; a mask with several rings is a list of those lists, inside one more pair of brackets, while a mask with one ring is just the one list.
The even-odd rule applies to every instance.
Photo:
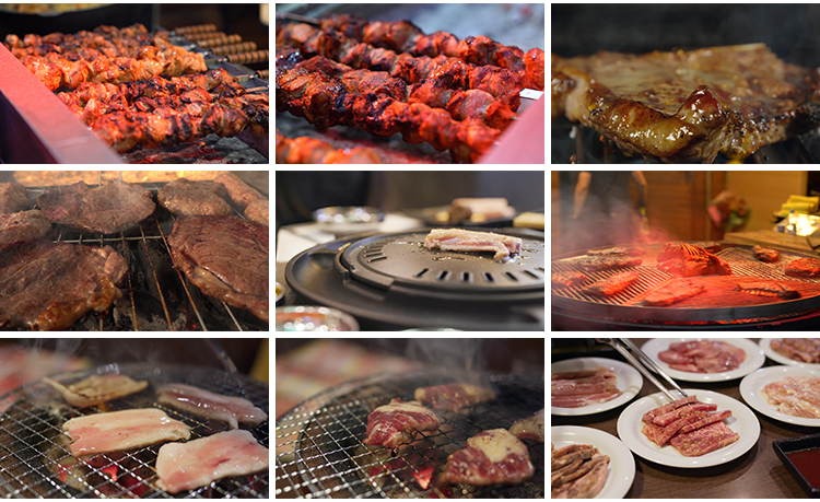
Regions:
[[259, 425], [268, 415], [247, 399], [222, 394], [185, 384], [167, 384], [160, 387], [159, 401], [183, 411], [200, 417], [227, 422], [231, 429], [237, 429], [238, 422]]

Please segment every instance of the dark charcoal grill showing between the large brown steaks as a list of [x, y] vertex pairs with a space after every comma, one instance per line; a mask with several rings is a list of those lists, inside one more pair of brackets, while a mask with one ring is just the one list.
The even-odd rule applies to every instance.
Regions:
[[[99, 183], [102, 184], [102, 173]], [[165, 183], [137, 184], [149, 190], [156, 202], [156, 192]], [[90, 185], [94, 188], [93, 185]], [[45, 190], [55, 187], [27, 187], [32, 202]], [[235, 212], [241, 218], [244, 215]], [[207, 296], [188, 278], [173, 268], [167, 237], [176, 217], [156, 205], [154, 213], [134, 229], [118, 235], [102, 235], [78, 231], [62, 225], [52, 225], [45, 238], [78, 245], [112, 246], [128, 264], [128, 273], [122, 279], [122, 297], [104, 313], [90, 312], [79, 319], [70, 330], [231, 330], [259, 331], [269, 329], [248, 311], [235, 308]], [[22, 329], [21, 329], [22, 330]]]

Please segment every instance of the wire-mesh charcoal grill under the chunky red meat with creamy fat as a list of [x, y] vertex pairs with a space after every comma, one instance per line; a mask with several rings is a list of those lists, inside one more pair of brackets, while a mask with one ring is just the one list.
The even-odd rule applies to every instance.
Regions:
[[468, 375], [427, 372], [378, 375], [319, 394], [277, 421], [276, 497], [297, 498], [493, 498], [544, 497], [543, 443], [527, 442], [536, 468], [530, 481], [518, 486], [441, 486], [437, 475], [447, 455], [467, 446], [467, 439], [488, 430], [508, 429], [515, 420], [543, 408], [543, 381], [515, 375], [483, 374], [481, 385], [496, 399], [469, 413], [438, 412], [438, 431], [425, 431], [396, 456], [386, 448], [370, 451], [367, 416], [400, 397], [409, 400], [417, 387], [458, 382]]

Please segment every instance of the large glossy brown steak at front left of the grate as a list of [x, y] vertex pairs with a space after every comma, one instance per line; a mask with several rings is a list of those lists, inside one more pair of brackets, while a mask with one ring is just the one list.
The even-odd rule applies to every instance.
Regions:
[[104, 312], [122, 293], [128, 265], [110, 246], [35, 240], [0, 249], [0, 327], [71, 327], [89, 311]]

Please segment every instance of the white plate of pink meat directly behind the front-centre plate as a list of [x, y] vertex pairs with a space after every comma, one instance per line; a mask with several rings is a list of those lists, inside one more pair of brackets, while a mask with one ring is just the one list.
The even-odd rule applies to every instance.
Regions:
[[[740, 366], [723, 373], [690, 373], [669, 367], [669, 364], [658, 359], [658, 354], [669, 350], [669, 346], [681, 341], [713, 340], [725, 341], [746, 352], [746, 361]], [[747, 338], [653, 338], [641, 347], [641, 350], [652, 358], [664, 372], [675, 380], [684, 382], [725, 382], [728, 380], [742, 378], [759, 369], [766, 361], [763, 350], [757, 343]]]

